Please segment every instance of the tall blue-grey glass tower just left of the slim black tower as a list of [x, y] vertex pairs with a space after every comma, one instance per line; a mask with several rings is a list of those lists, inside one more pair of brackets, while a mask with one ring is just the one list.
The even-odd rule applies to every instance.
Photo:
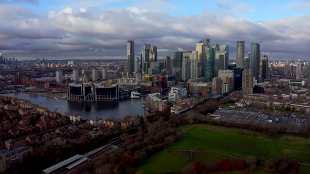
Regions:
[[249, 54], [249, 68], [252, 71], [253, 76], [259, 82], [260, 75], [260, 59], [261, 59], [261, 49], [259, 43], [251, 43], [251, 52]]

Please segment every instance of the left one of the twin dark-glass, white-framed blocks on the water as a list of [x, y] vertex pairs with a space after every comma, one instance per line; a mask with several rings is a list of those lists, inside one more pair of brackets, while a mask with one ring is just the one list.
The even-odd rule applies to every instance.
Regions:
[[91, 83], [70, 83], [67, 84], [67, 98], [73, 101], [92, 101], [92, 84]]

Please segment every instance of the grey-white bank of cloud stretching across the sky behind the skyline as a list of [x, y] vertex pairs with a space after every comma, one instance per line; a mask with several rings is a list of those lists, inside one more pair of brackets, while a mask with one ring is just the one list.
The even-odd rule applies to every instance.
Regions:
[[[236, 9], [244, 8], [248, 9], [247, 5]], [[0, 25], [1, 52], [16, 58], [125, 58], [128, 39], [135, 39], [136, 55], [140, 54], [143, 40], [148, 43], [154, 39], [152, 45], [158, 47], [160, 58], [171, 56], [173, 51], [194, 50], [196, 43], [209, 35], [211, 43], [229, 44], [231, 57], [235, 55], [236, 41], [245, 40], [247, 52], [250, 43], [262, 39], [262, 54], [270, 53], [272, 59], [292, 54], [305, 59], [306, 45], [310, 44], [310, 15], [255, 22], [232, 15], [218, 16], [208, 10], [172, 16], [138, 7], [65, 8], [38, 15], [25, 8], [0, 6]]]

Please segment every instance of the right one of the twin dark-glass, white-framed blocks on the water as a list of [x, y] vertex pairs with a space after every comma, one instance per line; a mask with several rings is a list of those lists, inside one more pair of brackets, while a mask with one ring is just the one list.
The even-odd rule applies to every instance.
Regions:
[[119, 99], [118, 85], [93, 85], [93, 97], [95, 101], [113, 101]]

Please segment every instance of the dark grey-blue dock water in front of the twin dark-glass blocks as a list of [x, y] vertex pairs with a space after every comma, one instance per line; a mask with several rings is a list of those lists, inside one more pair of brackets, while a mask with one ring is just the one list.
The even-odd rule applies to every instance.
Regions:
[[146, 102], [145, 97], [111, 102], [74, 102], [24, 93], [2, 95], [30, 100], [33, 104], [47, 107], [50, 111], [59, 112], [62, 115], [65, 115], [65, 113], [78, 113], [83, 119], [90, 119], [95, 116], [103, 119], [121, 119], [125, 115], [143, 115], [142, 103]]

